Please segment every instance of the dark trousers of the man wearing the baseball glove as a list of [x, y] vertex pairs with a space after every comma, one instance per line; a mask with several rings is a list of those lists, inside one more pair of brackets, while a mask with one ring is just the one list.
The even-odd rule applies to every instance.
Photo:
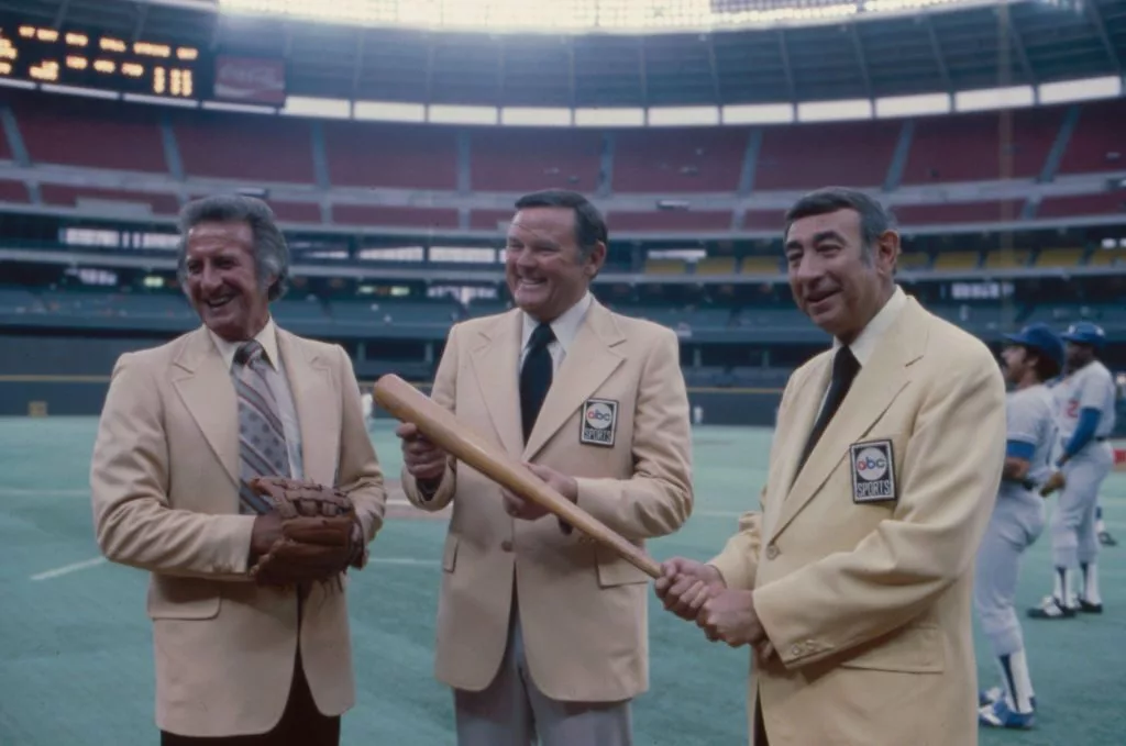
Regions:
[[272, 730], [253, 736], [194, 738], [161, 731], [161, 746], [339, 746], [340, 716], [321, 714], [309, 691], [301, 651], [294, 665], [293, 686], [282, 720]]

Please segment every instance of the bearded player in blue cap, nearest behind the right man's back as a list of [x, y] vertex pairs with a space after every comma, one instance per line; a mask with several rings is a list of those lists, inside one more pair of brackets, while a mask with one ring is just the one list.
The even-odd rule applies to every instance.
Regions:
[[1053, 471], [1055, 399], [1045, 381], [1058, 375], [1063, 341], [1045, 324], [1006, 336], [1002, 352], [1010, 390], [1006, 403], [1004, 471], [989, 528], [977, 550], [974, 606], [1001, 669], [1001, 686], [982, 695], [978, 721], [993, 728], [1030, 728], [1036, 696], [1013, 601], [1020, 555], [1044, 530], [1044, 500], [1035, 489]]

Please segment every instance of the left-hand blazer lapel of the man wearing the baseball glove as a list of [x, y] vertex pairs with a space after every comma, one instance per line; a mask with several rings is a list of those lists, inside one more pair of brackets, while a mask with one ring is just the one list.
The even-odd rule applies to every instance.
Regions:
[[191, 332], [172, 366], [172, 387], [238, 488], [239, 403], [207, 327]]

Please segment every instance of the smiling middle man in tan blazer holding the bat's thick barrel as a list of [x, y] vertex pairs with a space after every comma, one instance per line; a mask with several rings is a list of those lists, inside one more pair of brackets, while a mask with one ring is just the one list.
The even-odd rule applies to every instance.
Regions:
[[[432, 398], [642, 547], [691, 511], [677, 338], [590, 295], [606, 225], [582, 196], [537, 192], [517, 210], [506, 272], [518, 307], [454, 326]], [[413, 425], [399, 433], [410, 501], [453, 502], [436, 666], [458, 744], [631, 744], [629, 701], [649, 685], [647, 576]]]

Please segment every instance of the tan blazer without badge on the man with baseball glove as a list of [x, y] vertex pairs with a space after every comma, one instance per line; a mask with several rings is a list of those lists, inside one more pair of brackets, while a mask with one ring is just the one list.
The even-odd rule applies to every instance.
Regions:
[[[305, 477], [355, 501], [367, 541], [383, 523], [383, 475], [342, 349], [277, 332], [301, 423]], [[189, 736], [262, 732], [282, 717], [296, 646], [318, 707], [355, 700], [345, 593], [259, 587], [247, 570], [254, 516], [239, 514], [238, 402], [200, 327], [122, 356], [90, 471], [108, 559], [151, 573], [157, 725]], [[347, 583], [347, 578], [346, 583]]]

